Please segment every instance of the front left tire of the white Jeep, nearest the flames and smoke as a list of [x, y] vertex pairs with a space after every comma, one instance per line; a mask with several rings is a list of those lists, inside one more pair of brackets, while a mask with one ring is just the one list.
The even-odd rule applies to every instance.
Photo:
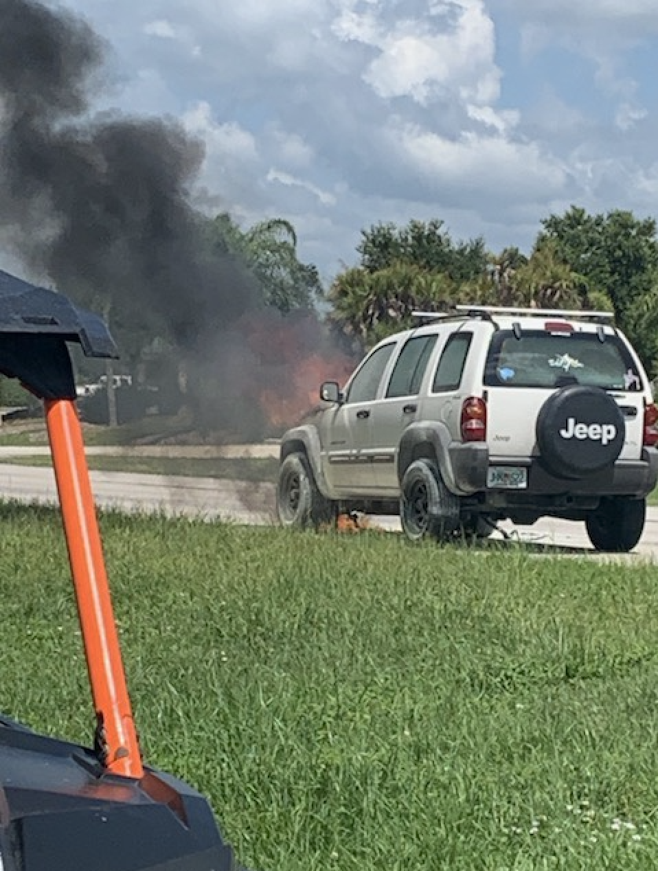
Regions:
[[292, 529], [317, 529], [335, 518], [335, 504], [318, 490], [305, 454], [285, 457], [279, 466], [276, 496], [277, 517]]

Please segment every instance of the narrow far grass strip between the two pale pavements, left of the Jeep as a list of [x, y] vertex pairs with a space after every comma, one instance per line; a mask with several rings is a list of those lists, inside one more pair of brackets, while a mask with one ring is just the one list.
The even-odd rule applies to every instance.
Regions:
[[[0, 459], [0, 463], [52, 465], [50, 456], [8, 456]], [[275, 457], [88, 456], [87, 464], [90, 469], [105, 472], [145, 472], [252, 482], [274, 482], [279, 469], [279, 460]]]

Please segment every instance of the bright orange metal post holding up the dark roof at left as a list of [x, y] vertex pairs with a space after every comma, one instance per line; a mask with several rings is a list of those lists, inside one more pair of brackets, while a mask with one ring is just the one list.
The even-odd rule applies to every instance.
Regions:
[[98, 719], [97, 743], [102, 748], [104, 765], [111, 773], [140, 779], [144, 768], [125, 683], [77, 409], [70, 399], [46, 400], [44, 404], [91, 695]]

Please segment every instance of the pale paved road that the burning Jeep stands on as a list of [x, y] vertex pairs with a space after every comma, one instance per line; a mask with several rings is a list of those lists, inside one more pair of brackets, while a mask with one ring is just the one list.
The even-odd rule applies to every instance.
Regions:
[[[237, 523], [272, 523], [274, 520], [274, 488], [268, 483], [94, 471], [91, 484], [97, 503], [104, 508], [159, 510], [171, 516], [208, 519], [223, 517]], [[55, 478], [49, 468], [0, 463], [0, 493], [24, 502], [57, 502]], [[399, 530], [395, 517], [373, 518], [373, 523]], [[522, 541], [557, 546], [565, 553], [592, 550], [583, 523], [546, 518], [532, 527], [514, 529], [505, 524], [504, 529], [508, 535], [518, 536]], [[658, 562], [658, 509], [648, 510], [641, 543], [627, 558], [635, 562], [647, 559]]]

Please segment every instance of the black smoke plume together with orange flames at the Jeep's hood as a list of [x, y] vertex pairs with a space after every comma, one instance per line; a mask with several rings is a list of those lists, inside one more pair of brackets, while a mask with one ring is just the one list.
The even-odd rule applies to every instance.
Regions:
[[[0, 3], [0, 246], [102, 312], [121, 342], [133, 383], [111, 398], [90, 390], [87, 422], [183, 407], [204, 441], [279, 435], [353, 361], [337, 368], [312, 305], [279, 309], [222, 246], [195, 205], [204, 145], [185, 125], [95, 111], [107, 55], [58, 4]], [[101, 368], [88, 369], [97, 380]]]

